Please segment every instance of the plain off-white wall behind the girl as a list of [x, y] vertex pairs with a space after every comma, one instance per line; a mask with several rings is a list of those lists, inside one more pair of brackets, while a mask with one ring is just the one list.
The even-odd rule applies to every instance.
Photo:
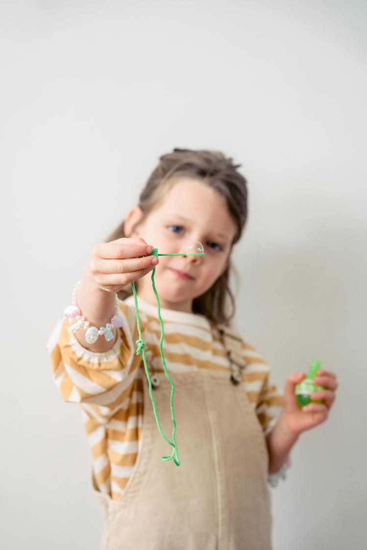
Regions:
[[236, 326], [274, 381], [314, 358], [339, 377], [273, 492], [274, 548], [366, 548], [365, 2], [0, 6], [1, 548], [98, 548], [78, 406], [45, 342], [92, 245], [174, 146], [243, 164]]

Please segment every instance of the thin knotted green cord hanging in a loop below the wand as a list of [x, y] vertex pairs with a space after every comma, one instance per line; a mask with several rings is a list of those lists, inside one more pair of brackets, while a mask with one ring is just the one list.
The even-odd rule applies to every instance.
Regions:
[[[160, 254], [160, 256], [163, 256], [163, 254]], [[143, 351], [143, 362], [144, 362], [145, 374], [146, 374], [148, 384], [149, 384], [149, 395], [150, 395], [150, 400], [151, 400], [152, 405], [153, 405], [154, 416], [155, 416], [155, 419], [156, 419], [156, 422], [157, 422], [158, 431], [160, 432], [163, 439], [165, 439], [165, 441], [167, 441], [167, 443], [173, 447], [172, 454], [169, 455], [169, 456], [162, 456], [161, 460], [168, 461], [168, 460], [173, 459], [174, 463], [177, 466], [179, 466], [180, 461], [179, 461], [179, 458], [178, 458], [178, 450], [177, 450], [177, 444], [176, 444], [176, 420], [174, 420], [174, 412], [173, 412], [174, 384], [172, 382], [171, 377], [168, 374], [166, 361], [165, 361], [165, 356], [163, 355], [162, 344], [163, 344], [164, 331], [163, 331], [163, 321], [162, 321], [162, 317], [161, 317], [160, 301], [159, 301], [159, 298], [158, 298], [158, 293], [157, 293], [155, 282], [154, 282], [155, 271], [156, 271], [156, 268], [154, 268], [154, 270], [152, 271], [151, 279], [152, 279], [153, 291], [154, 291], [154, 294], [155, 294], [155, 297], [156, 297], [156, 300], [157, 300], [158, 318], [159, 318], [160, 325], [161, 325], [160, 353], [161, 353], [161, 358], [162, 358], [162, 364], [163, 364], [163, 368], [165, 370], [166, 378], [169, 380], [169, 383], [171, 384], [171, 398], [169, 399], [169, 404], [171, 405], [171, 418], [172, 418], [172, 425], [173, 425], [173, 428], [172, 428], [172, 441], [169, 441], [168, 437], [163, 433], [162, 428], [161, 428], [161, 423], [158, 419], [157, 407], [156, 407], [156, 403], [155, 403], [153, 393], [152, 393], [152, 382], [151, 382], [151, 379], [150, 379], [148, 366], [146, 364], [146, 356], [145, 356], [145, 350], [144, 350], [144, 340], [143, 340], [143, 336], [141, 335], [140, 318], [139, 318], [139, 310], [138, 310], [138, 297], [136, 296], [135, 285], [132, 282], [132, 289], [133, 289], [134, 302], [135, 302], [136, 326], [138, 327], [138, 332], [139, 332], [139, 339], [136, 340], [136, 342], [135, 342], [136, 345], [138, 346], [138, 349], [136, 350], [136, 355], [140, 355], [140, 351]]]

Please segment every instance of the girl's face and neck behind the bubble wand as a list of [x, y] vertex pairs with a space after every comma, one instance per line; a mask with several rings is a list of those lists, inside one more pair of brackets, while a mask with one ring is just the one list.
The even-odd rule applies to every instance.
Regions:
[[[139, 208], [136, 215], [141, 215]], [[226, 201], [200, 180], [181, 178], [155, 210], [135, 225], [134, 234], [158, 253], [185, 252], [193, 241], [205, 256], [160, 256], [155, 283], [161, 307], [192, 311], [194, 298], [208, 290], [226, 270], [236, 225]], [[138, 295], [155, 304], [150, 274], [139, 279]]]

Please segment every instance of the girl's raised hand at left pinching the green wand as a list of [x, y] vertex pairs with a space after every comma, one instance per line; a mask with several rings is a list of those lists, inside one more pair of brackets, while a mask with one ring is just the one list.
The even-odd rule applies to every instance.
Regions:
[[153, 247], [140, 237], [97, 244], [89, 262], [91, 278], [98, 288], [119, 292], [157, 265], [157, 256], [150, 256], [152, 250]]

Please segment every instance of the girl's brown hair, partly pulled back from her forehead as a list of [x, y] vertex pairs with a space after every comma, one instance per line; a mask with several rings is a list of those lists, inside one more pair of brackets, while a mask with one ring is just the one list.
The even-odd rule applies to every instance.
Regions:
[[[191, 151], [174, 149], [160, 157], [139, 197], [139, 207], [147, 216], [163, 198], [165, 192], [178, 178], [199, 179], [215, 189], [227, 203], [228, 211], [237, 226], [232, 244], [240, 239], [247, 219], [247, 185], [238, 172], [240, 164], [234, 164], [217, 151]], [[109, 235], [108, 240], [125, 237], [124, 222]], [[215, 324], [228, 324], [235, 311], [234, 297], [229, 288], [229, 264], [226, 271], [212, 287], [193, 301], [193, 311], [205, 315]], [[129, 295], [127, 289], [120, 291], [120, 298]], [[229, 307], [228, 307], [229, 306]]]

